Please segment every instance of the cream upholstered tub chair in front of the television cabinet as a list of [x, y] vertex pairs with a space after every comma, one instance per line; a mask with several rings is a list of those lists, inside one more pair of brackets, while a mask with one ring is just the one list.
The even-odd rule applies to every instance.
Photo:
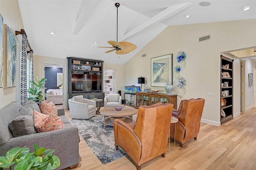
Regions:
[[96, 115], [96, 101], [84, 99], [82, 95], [68, 99], [72, 119], [90, 119]]

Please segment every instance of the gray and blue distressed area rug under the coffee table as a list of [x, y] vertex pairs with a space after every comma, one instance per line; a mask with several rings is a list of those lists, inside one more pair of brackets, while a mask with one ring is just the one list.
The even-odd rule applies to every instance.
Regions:
[[[133, 121], [136, 121], [136, 117], [137, 115], [133, 115]], [[116, 150], [114, 128], [106, 125], [104, 129], [103, 115], [95, 115], [87, 120], [72, 119], [70, 122], [78, 127], [79, 134], [102, 164], [107, 164], [127, 155], [120, 147]]]

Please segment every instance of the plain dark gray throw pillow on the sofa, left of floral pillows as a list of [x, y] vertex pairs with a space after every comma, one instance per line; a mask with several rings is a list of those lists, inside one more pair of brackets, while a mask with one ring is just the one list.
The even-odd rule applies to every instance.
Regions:
[[34, 127], [33, 110], [29, 107], [20, 109], [17, 116], [10, 121], [9, 128], [13, 137], [37, 133]]

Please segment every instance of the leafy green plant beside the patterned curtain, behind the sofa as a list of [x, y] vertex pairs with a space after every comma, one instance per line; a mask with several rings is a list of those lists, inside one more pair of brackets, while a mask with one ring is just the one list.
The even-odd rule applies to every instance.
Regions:
[[[40, 89], [46, 89], [46, 87], [44, 87], [46, 82], [46, 78], [42, 78], [41, 80], [38, 79], [38, 77], [36, 76], [36, 79], [34, 79], [35, 81], [30, 81], [30, 83], [34, 84], [34, 89], [32, 89], [31, 87], [28, 88], [28, 100], [32, 100], [35, 101], [38, 105], [41, 103], [41, 101], [44, 101], [44, 96], [46, 96], [45, 92], [42, 92]], [[44, 96], [42, 95], [44, 94]]]

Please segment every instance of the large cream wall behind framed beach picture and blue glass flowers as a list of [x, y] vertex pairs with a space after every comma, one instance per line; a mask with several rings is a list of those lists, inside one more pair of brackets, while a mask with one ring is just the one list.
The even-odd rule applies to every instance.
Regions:
[[[158, 88], [160, 93], [166, 93], [164, 87], [151, 87], [150, 60], [173, 53], [175, 67], [176, 54], [183, 50], [187, 57], [180, 75], [187, 81], [185, 95], [182, 97], [178, 94], [178, 105], [182, 99], [204, 98], [206, 101], [202, 122], [220, 125], [220, 52], [255, 46], [255, 22], [256, 20], [238, 20], [169, 26], [125, 63], [124, 73], [129, 74], [125, 75], [124, 85], [137, 83], [138, 77], [142, 76], [146, 77], [146, 87]], [[199, 37], [209, 34], [210, 40], [198, 43]], [[142, 57], [145, 53], [146, 57]], [[234, 68], [234, 73], [237, 74], [235, 77], [240, 77], [239, 68]], [[177, 76], [174, 74], [174, 85]], [[234, 88], [240, 89], [240, 83], [235, 84]], [[214, 96], [208, 96], [208, 92], [213, 92]], [[240, 90], [234, 91], [234, 96], [240, 97]], [[235, 99], [234, 102], [234, 111], [240, 110], [239, 100]]]

